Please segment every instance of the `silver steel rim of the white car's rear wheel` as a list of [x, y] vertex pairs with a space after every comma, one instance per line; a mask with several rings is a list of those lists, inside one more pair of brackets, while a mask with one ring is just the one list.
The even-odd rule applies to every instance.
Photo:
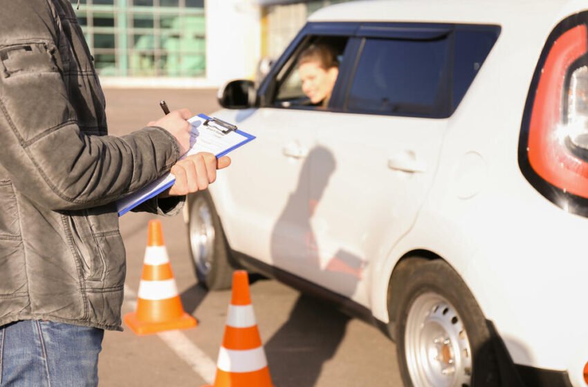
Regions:
[[418, 296], [408, 312], [405, 356], [415, 387], [468, 387], [472, 351], [454, 306], [436, 293]]

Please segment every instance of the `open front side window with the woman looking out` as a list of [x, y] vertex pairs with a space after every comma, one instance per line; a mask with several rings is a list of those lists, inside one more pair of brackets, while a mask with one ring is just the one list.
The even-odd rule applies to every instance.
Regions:
[[[327, 108], [348, 40], [347, 37], [328, 36], [307, 39], [282, 68], [273, 105], [286, 108]], [[309, 55], [310, 59], [306, 60]], [[317, 56], [331, 58], [328, 60], [329, 64], [319, 61], [313, 66], [313, 58]], [[331, 67], [337, 70], [334, 75], [329, 70]]]

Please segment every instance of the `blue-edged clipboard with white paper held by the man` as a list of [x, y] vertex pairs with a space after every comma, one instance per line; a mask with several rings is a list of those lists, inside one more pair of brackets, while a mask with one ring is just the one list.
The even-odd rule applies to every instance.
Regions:
[[[255, 139], [255, 135], [240, 131], [236, 125], [205, 114], [195, 115], [188, 122], [192, 124], [190, 150], [180, 160], [199, 152], [210, 152], [220, 158]], [[175, 181], [174, 175], [167, 173], [142, 189], [117, 200], [118, 216], [126, 214], [146, 200], [159, 195], [172, 187]]]

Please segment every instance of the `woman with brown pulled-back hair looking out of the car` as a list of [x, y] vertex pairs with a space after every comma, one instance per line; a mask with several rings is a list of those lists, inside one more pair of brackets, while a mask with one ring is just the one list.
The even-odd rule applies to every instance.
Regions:
[[313, 106], [326, 108], [339, 75], [337, 55], [326, 44], [312, 44], [298, 59], [302, 91]]

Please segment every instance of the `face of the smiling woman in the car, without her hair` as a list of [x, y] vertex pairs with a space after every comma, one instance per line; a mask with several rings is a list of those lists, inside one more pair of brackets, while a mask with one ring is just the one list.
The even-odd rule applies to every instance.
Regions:
[[302, 80], [302, 91], [313, 104], [318, 104], [331, 97], [331, 91], [339, 75], [339, 69], [331, 67], [325, 70], [319, 62], [304, 62], [298, 66], [298, 75]]

